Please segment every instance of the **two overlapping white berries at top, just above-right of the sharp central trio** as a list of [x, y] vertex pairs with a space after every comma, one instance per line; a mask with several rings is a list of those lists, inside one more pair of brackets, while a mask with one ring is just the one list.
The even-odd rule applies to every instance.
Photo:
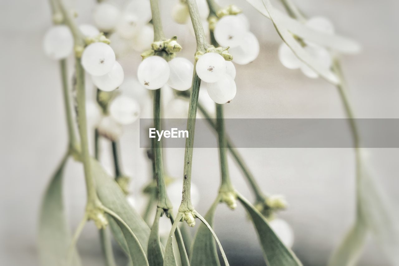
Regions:
[[239, 65], [251, 63], [259, 55], [259, 41], [249, 31], [248, 18], [239, 13], [226, 15], [219, 19], [213, 30], [215, 40], [220, 46], [229, 46], [233, 62]]

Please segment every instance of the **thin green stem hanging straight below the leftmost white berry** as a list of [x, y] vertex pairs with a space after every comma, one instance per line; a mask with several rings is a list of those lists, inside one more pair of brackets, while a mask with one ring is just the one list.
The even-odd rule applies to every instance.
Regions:
[[67, 121], [67, 128], [68, 128], [69, 149], [73, 151], [76, 149], [78, 141], [75, 135], [75, 128], [71, 111], [71, 100], [70, 100], [69, 86], [68, 86], [67, 60], [66, 59], [60, 60], [59, 64], [61, 68], [62, 91], [63, 91], [64, 105], [65, 105], [65, 118]]

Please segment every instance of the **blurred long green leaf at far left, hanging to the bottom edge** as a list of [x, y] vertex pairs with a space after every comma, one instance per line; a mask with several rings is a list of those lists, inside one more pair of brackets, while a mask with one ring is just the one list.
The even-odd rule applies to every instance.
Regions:
[[[39, 216], [39, 256], [42, 266], [65, 266], [71, 243], [71, 233], [64, 212], [62, 179], [68, 155], [62, 159], [45, 191]], [[73, 265], [81, 265], [73, 251]]]

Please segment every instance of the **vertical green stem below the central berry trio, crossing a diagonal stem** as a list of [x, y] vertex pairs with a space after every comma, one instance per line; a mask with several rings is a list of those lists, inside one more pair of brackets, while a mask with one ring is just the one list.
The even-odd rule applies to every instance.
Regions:
[[234, 191], [233, 185], [231, 184], [229, 177], [229, 166], [227, 164], [227, 141], [225, 138], [225, 125], [223, 118], [223, 105], [216, 105], [216, 131], [217, 131], [217, 139], [219, 144], [219, 160], [220, 160], [220, 191]]

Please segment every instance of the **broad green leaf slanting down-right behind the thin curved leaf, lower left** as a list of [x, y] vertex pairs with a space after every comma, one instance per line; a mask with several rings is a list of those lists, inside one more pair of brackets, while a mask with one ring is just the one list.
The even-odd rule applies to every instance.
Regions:
[[[150, 228], [146, 222], [144, 222], [136, 210], [130, 206], [119, 185], [105, 172], [97, 160], [92, 158], [91, 167], [96, 181], [97, 194], [101, 202], [126, 222], [130, 230], [132, 230], [137, 237], [142, 248], [147, 250]], [[115, 228], [115, 223], [111, 223], [111, 229], [117, 242], [122, 244], [122, 248], [125, 250], [126, 246], [123, 247], [124, 239], [120, 238], [120, 234], [115, 234], [115, 232], [118, 232], [118, 228]]]

